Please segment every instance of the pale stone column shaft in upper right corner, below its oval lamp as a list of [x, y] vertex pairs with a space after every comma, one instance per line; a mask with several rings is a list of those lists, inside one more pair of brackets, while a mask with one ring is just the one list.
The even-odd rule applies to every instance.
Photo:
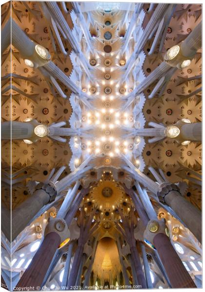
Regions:
[[181, 51], [185, 57], [192, 57], [202, 47], [202, 22], [182, 42]]

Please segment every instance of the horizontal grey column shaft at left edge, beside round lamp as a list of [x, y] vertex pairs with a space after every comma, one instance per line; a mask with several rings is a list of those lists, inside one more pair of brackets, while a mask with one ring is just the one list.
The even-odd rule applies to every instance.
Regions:
[[23, 140], [31, 138], [34, 134], [34, 126], [30, 123], [8, 121], [1, 123], [2, 140]]

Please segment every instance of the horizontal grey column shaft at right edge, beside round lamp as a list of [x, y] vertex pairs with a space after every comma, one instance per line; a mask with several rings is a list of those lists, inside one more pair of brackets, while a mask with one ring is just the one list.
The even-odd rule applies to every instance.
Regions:
[[202, 141], [202, 123], [184, 124], [180, 128], [180, 138], [184, 141]]

